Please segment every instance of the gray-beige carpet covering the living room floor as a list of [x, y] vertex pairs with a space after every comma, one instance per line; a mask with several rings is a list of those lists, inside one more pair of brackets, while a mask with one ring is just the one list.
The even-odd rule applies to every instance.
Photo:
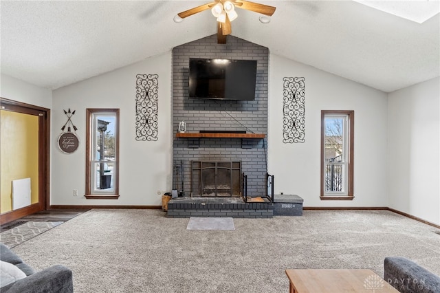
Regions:
[[369, 268], [408, 257], [440, 274], [439, 229], [386, 210], [305, 210], [186, 230], [160, 210], [90, 210], [15, 248], [36, 270], [61, 263], [80, 292], [287, 292], [287, 268]]

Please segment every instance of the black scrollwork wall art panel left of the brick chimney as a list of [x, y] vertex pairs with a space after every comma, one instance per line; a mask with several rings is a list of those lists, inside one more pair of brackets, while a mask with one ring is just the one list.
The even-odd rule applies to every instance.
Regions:
[[157, 140], [158, 78], [136, 75], [136, 140]]

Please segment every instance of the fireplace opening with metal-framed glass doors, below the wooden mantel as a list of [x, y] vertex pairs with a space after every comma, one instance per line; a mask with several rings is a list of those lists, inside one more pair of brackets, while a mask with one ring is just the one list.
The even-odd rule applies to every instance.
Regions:
[[191, 162], [193, 197], [240, 197], [241, 162]]

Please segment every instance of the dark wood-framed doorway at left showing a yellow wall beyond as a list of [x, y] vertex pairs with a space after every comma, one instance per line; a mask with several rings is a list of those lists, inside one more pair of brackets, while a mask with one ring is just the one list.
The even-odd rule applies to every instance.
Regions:
[[[50, 109], [0, 98], [0, 121], [1, 225], [49, 208]], [[30, 202], [14, 208], [12, 188], [23, 178]]]

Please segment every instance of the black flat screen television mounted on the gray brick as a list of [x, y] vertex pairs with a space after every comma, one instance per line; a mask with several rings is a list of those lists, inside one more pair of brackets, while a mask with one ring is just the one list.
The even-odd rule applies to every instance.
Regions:
[[189, 96], [254, 100], [256, 61], [190, 58]]

